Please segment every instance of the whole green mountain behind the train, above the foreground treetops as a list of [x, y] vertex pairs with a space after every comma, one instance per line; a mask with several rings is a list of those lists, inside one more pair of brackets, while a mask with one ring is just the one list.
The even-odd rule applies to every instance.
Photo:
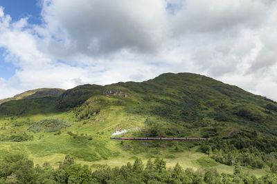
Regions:
[[[277, 103], [234, 85], [167, 73], [141, 83], [44, 92], [28, 92], [0, 106], [0, 159], [24, 152], [34, 163], [57, 167], [69, 154], [96, 168], [161, 156], [169, 167], [178, 162], [233, 173], [242, 165], [256, 176], [277, 170]], [[111, 136], [210, 139], [119, 141]]]

